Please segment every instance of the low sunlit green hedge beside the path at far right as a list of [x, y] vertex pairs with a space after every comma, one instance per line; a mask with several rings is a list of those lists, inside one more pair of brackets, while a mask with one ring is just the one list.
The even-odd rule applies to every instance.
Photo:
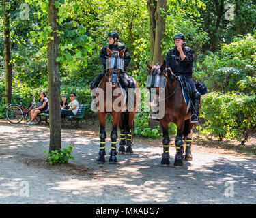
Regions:
[[218, 140], [236, 139], [244, 144], [256, 126], [256, 95], [211, 92], [201, 101], [203, 134], [214, 134]]

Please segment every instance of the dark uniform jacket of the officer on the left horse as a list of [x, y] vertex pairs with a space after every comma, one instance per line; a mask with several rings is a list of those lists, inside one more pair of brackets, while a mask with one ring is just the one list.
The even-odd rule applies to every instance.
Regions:
[[107, 52], [106, 52], [106, 47], [109, 47], [109, 49], [111, 51], [121, 51], [123, 49], [125, 49], [124, 51], [124, 71], [126, 71], [126, 68], [128, 67], [129, 63], [130, 63], [130, 52], [128, 51], [128, 48], [124, 45], [124, 44], [120, 44], [118, 45], [108, 45], [108, 46], [104, 46], [102, 48], [102, 50], [100, 51], [100, 62], [102, 63], [102, 65], [104, 66], [104, 69], [106, 69], [106, 59], [108, 57]]

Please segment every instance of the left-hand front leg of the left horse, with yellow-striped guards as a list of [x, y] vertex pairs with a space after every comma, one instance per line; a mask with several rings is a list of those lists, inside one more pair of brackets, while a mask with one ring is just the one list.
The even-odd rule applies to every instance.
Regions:
[[98, 120], [100, 123], [100, 151], [97, 159], [98, 164], [105, 163], [105, 155], [106, 155], [106, 114], [102, 112], [98, 112]]

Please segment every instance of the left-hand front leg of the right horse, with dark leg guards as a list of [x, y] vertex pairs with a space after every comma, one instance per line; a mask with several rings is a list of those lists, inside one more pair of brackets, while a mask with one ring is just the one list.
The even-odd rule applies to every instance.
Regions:
[[164, 152], [162, 153], [162, 160], [161, 160], [161, 166], [170, 166], [170, 154], [169, 154], [169, 147], [170, 147], [170, 138], [168, 133], [168, 125], [169, 123], [160, 120], [160, 125], [162, 127], [162, 145], [164, 147]]

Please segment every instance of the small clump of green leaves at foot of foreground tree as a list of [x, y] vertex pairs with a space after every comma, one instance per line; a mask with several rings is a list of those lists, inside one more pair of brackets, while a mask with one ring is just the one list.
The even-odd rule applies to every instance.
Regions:
[[[74, 160], [74, 157], [71, 155], [74, 144], [68, 143], [67, 147], [64, 149], [53, 150], [51, 153], [48, 153], [48, 161], [51, 165], [56, 165], [57, 163], [68, 163], [68, 159]], [[44, 153], [47, 153], [47, 150], [44, 150]]]

